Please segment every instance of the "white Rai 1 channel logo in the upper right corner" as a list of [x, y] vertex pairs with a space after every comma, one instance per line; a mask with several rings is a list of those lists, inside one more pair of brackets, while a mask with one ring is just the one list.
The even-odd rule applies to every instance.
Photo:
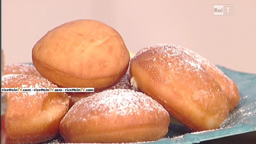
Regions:
[[233, 5], [213, 5], [213, 15], [233, 15]]

